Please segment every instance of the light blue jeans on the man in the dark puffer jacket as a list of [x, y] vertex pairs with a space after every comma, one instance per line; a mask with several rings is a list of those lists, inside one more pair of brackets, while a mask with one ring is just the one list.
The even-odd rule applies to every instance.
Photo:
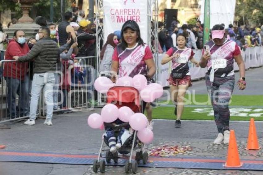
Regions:
[[34, 74], [30, 101], [30, 120], [36, 119], [37, 105], [41, 89], [44, 88], [44, 98], [47, 107], [46, 120], [52, 120], [53, 114], [53, 86], [55, 83], [54, 73]]

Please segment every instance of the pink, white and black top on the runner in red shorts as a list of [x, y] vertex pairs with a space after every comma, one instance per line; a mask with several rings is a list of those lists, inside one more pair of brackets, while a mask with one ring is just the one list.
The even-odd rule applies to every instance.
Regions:
[[178, 47], [172, 47], [170, 48], [166, 54], [171, 57], [172, 55], [179, 53], [180, 57], [173, 58], [172, 59], [172, 69], [177, 69], [177, 70], [188, 70], [188, 73], [186, 75], [190, 75], [189, 72], [189, 65], [188, 62], [190, 59], [193, 58], [193, 55], [195, 54], [191, 48], [186, 47], [185, 49], [179, 49]]

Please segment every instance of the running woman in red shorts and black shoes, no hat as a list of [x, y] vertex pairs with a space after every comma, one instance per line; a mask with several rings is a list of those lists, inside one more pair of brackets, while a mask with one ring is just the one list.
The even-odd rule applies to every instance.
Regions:
[[181, 33], [177, 36], [177, 46], [170, 48], [162, 58], [162, 64], [172, 61], [172, 73], [167, 81], [171, 87], [171, 99], [175, 102], [175, 127], [181, 127], [181, 116], [183, 114], [183, 97], [188, 87], [192, 86], [188, 62], [199, 66], [193, 58], [193, 51], [186, 47], [186, 36]]

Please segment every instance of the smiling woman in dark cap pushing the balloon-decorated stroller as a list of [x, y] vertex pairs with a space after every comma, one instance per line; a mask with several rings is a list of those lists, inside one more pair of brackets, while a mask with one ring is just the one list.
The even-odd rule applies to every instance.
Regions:
[[[151, 81], [156, 72], [153, 54], [148, 45], [145, 45], [141, 36], [138, 24], [133, 20], [127, 20], [121, 29], [122, 42], [116, 46], [113, 56], [111, 71], [111, 79], [113, 82], [116, 80], [117, 72], [119, 78], [124, 76], [134, 77], [137, 74], [142, 74], [146, 79]], [[143, 111], [146, 102], [143, 103]], [[149, 113], [150, 105], [147, 105]], [[148, 117], [148, 128], [153, 129], [153, 121], [150, 115]]]

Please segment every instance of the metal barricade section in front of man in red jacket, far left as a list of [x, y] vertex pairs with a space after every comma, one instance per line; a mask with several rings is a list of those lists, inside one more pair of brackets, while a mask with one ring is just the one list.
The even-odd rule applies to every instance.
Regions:
[[20, 120], [29, 115], [30, 63], [1, 60], [0, 123]]

